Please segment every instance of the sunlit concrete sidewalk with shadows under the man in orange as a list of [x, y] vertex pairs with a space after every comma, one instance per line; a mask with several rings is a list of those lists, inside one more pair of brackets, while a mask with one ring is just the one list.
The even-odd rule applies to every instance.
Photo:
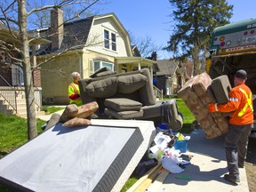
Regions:
[[[164, 180], [160, 191], [164, 192], [249, 192], [246, 172], [239, 169], [240, 183], [232, 184], [223, 179], [228, 173], [224, 151], [224, 137], [206, 139], [202, 129], [189, 134], [188, 154], [192, 155], [191, 164], [186, 165], [185, 171], [179, 174], [170, 173]], [[177, 176], [186, 179], [178, 179]]]

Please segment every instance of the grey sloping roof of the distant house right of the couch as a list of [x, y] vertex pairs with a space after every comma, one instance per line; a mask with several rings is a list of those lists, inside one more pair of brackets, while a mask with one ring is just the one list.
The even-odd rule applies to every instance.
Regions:
[[159, 72], [156, 72], [156, 76], [173, 76], [178, 65], [177, 60], [157, 60]]

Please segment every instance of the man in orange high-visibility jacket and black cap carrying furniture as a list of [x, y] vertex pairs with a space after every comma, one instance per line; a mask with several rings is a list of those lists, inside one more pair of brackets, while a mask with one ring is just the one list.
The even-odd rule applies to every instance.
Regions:
[[233, 183], [240, 181], [238, 167], [244, 168], [248, 135], [253, 128], [252, 92], [245, 85], [246, 79], [246, 71], [243, 69], [236, 71], [235, 87], [228, 92], [228, 103], [208, 104], [210, 112], [233, 112], [229, 116], [228, 133], [224, 143], [229, 172], [224, 175], [224, 179]]

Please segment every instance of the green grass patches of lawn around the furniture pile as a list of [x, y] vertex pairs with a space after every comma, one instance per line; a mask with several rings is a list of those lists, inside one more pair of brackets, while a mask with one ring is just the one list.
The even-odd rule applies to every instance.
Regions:
[[[168, 98], [169, 99], [169, 98]], [[176, 98], [176, 103], [178, 105], [180, 113], [183, 115], [183, 126], [179, 132], [189, 133], [191, 132], [191, 124], [195, 120], [195, 117], [188, 109], [183, 100]], [[47, 114], [52, 114], [60, 109], [56, 107], [44, 107], [44, 111]], [[28, 142], [28, 130], [27, 130], [27, 120], [19, 116], [5, 116], [0, 114], [1, 124], [0, 124], [0, 158], [4, 155], [12, 152], [13, 149], [19, 148], [21, 145]], [[37, 119], [37, 132], [40, 134], [42, 132], [41, 126], [45, 124], [45, 121]], [[136, 178], [130, 178], [126, 181], [122, 192], [127, 191], [132, 185], [137, 181]], [[0, 191], [11, 192], [12, 190], [1, 186]]]

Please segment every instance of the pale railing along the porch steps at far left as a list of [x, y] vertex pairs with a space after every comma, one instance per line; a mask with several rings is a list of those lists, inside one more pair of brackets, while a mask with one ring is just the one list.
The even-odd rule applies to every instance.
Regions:
[[0, 98], [3, 98], [11, 108], [17, 113], [17, 92], [9, 84], [3, 76], [0, 75], [0, 83], [3, 84], [3, 88], [0, 90]]

